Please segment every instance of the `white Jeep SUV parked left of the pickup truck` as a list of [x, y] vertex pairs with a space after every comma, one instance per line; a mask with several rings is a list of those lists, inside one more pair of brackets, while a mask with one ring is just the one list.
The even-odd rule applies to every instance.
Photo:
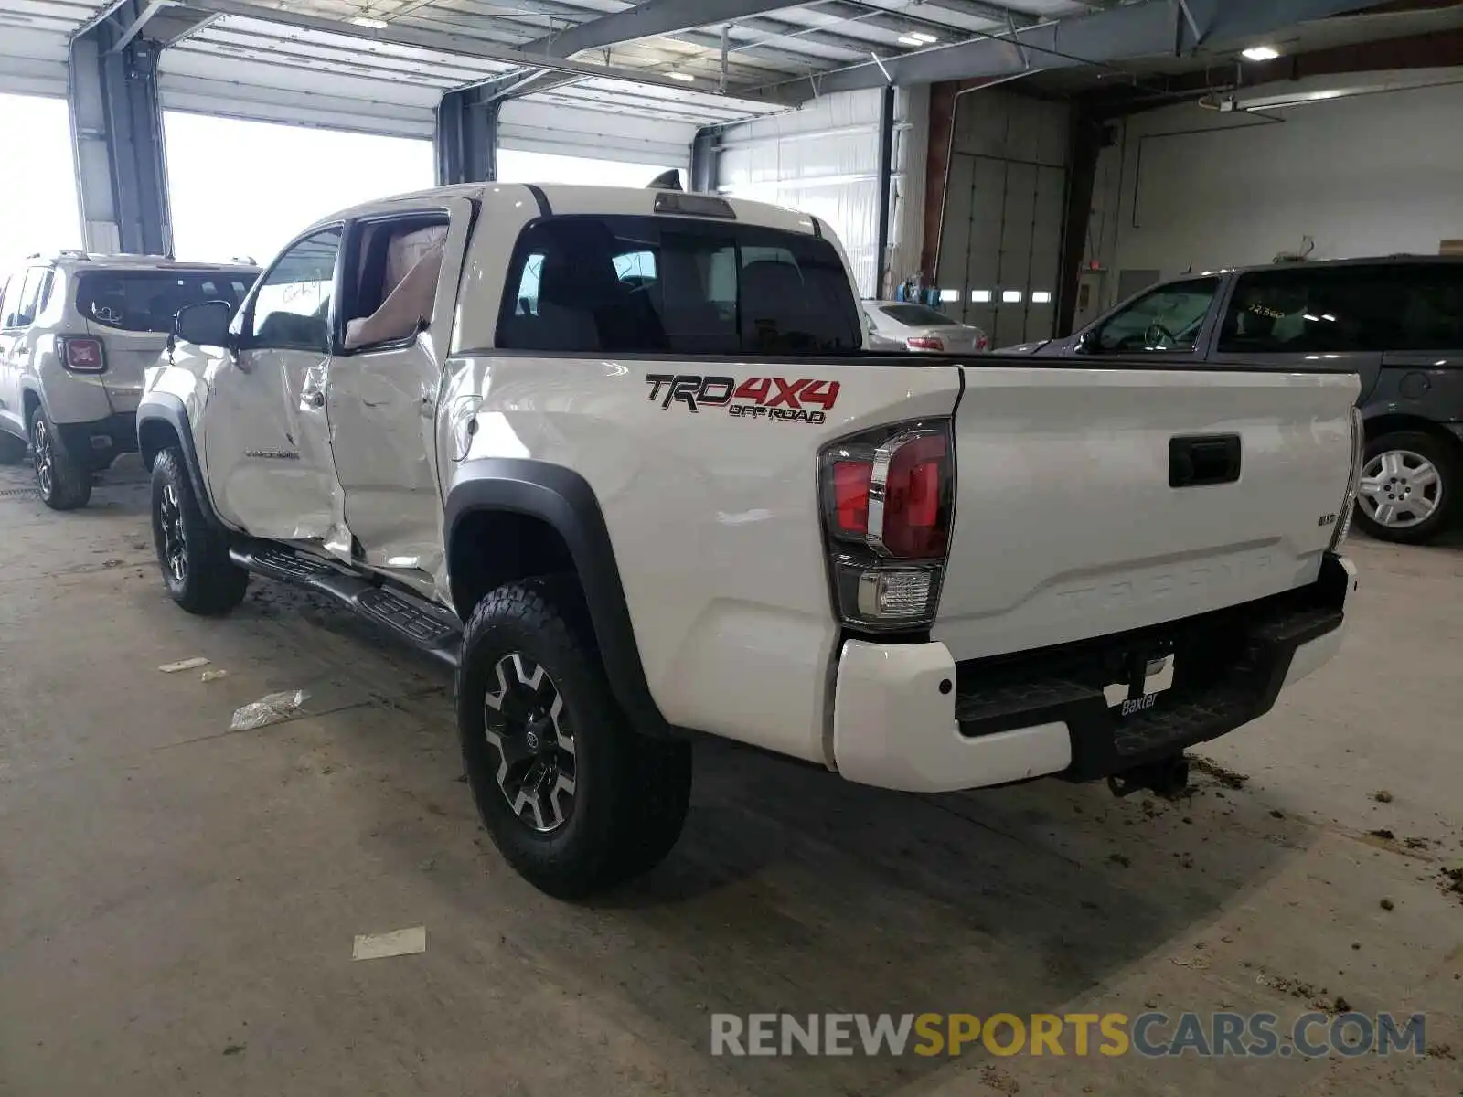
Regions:
[[257, 274], [158, 256], [31, 256], [0, 294], [0, 461], [29, 451], [45, 505], [85, 506], [92, 474], [138, 449], [142, 374], [177, 310], [237, 306]]

